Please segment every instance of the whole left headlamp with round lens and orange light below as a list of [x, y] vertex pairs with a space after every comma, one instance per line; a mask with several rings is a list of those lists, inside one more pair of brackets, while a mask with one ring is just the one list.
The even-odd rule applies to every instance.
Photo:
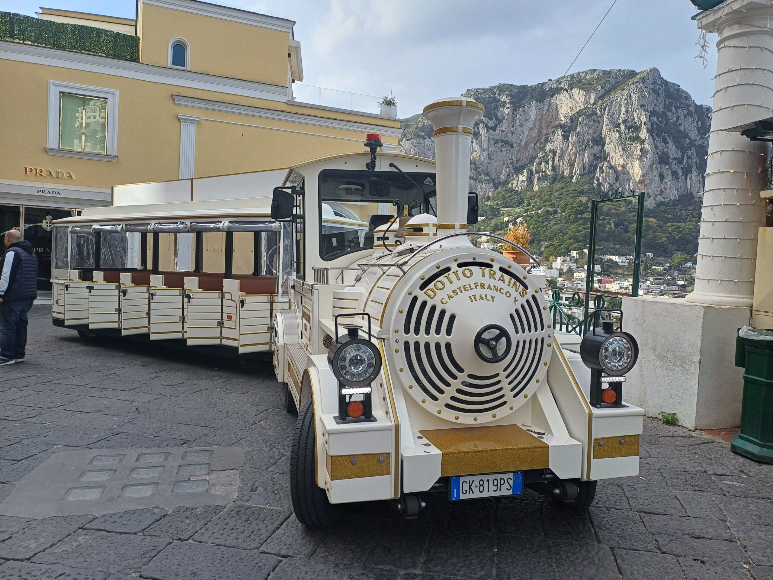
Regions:
[[371, 418], [370, 384], [381, 372], [381, 353], [369, 339], [359, 338], [360, 326], [346, 326], [328, 351], [328, 363], [338, 379], [339, 422]]

